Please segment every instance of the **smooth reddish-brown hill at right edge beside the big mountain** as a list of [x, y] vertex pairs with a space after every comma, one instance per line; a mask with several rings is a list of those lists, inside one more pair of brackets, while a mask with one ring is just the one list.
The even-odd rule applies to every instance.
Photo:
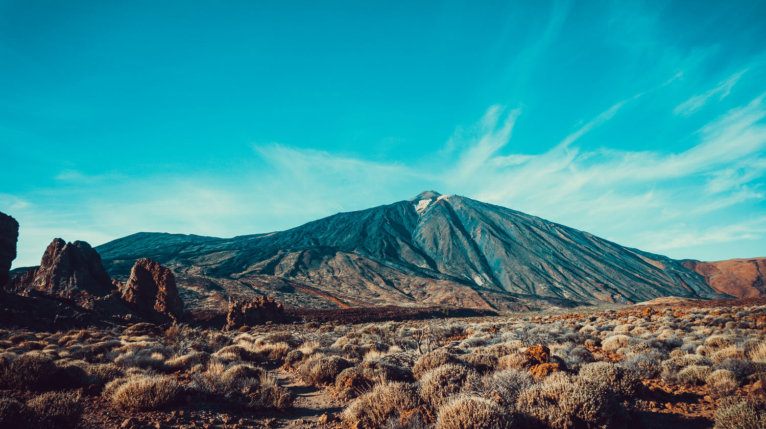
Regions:
[[682, 264], [704, 276], [719, 293], [738, 298], [766, 296], [766, 257], [715, 262], [683, 260]]

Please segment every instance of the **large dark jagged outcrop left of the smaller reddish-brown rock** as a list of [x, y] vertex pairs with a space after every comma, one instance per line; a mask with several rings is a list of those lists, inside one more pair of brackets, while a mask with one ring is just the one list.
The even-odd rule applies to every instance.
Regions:
[[15, 290], [35, 289], [71, 298], [82, 293], [107, 296], [112, 289], [98, 252], [85, 241], [67, 243], [61, 238], [48, 245], [39, 267], [11, 283]]

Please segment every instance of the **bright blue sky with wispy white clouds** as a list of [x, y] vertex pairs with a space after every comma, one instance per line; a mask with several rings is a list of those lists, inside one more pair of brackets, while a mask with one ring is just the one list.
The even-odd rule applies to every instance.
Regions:
[[[477, 4], [480, 3], [480, 4]], [[0, 0], [0, 211], [231, 237], [466, 195], [766, 256], [766, 3]]]

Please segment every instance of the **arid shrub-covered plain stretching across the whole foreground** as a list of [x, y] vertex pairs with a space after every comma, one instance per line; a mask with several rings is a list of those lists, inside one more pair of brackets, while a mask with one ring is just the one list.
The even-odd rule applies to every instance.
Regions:
[[232, 331], [0, 331], [2, 427], [766, 423], [766, 300]]

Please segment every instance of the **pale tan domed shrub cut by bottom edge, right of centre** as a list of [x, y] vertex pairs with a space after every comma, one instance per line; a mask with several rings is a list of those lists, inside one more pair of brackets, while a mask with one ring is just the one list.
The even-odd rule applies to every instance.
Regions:
[[462, 396], [439, 410], [437, 429], [508, 429], [513, 421], [508, 411], [485, 398]]

